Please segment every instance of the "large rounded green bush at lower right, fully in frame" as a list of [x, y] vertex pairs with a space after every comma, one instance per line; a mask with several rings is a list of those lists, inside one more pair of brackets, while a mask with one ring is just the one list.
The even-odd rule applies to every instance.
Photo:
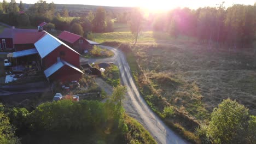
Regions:
[[249, 110], [235, 100], [226, 99], [214, 108], [207, 136], [214, 143], [248, 143]]

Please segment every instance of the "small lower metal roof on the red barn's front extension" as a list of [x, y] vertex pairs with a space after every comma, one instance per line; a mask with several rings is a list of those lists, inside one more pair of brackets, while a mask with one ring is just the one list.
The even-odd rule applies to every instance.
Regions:
[[67, 63], [65, 61], [59, 61], [59, 62], [56, 62], [55, 64], [51, 65], [51, 67], [49, 67], [48, 69], [44, 70], [44, 75], [48, 78], [49, 76], [53, 75], [57, 70], [62, 68], [64, 65], [68, 65], [69, 67], [79, 71], [80, 73], [83, 73], [83, 71], [74, 67], [74, 65]]

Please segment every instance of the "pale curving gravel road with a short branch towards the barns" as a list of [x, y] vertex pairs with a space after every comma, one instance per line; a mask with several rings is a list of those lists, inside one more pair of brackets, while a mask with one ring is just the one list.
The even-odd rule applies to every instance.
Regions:
[[139, 91], [132, 79], [129, 64], [126, 61], [125, 55], [120, 50], [114, 49], [109, 46], [101, 46], [109, 49], [115, 53], [112, 58], [102, 59], [86, 59], [81, 58], [80, 62], [114, 62], [118, 65], [121, 81], [127, 87], [127, 95], [124, 100], [124, 107], [126, 112], [133, 118], [137, 119], [144, 128], [154, 137], [158, 143], [189, 143], [182, 139], [179, 135], [174, 133], [170, 128], [165, 125], [161, 119], [147, 105], [146, 101], [141, 97]]

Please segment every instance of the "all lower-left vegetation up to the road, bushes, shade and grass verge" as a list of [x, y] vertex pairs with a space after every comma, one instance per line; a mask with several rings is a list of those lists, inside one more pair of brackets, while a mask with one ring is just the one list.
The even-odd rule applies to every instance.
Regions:
[[[60, 100], [35, 110], [1, 105], [1, 143], [156, 143], [133, 118], [125, 115], [124, 86], [106, 102]], [[14, 127], [13, 127], [14, 126]], [[4, 128], [4, 129], [3, 129]], [[21, 140], [15, 136], [14, 131]], [[72, 131], [72, 133], [70, 133]], [[8, 133], [8, 137], [5, 134]], [[16, 142], [14, 142], [16, 141]]]

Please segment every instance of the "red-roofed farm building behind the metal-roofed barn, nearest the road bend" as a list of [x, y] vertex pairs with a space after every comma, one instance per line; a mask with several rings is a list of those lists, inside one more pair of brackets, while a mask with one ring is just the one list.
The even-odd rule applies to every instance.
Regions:
[[89, 51], [92, 49], [93, 45], [98, 45], [98, 43], [84, 39], [80, 35], [63, 31], [58, 38], [62, 40], [64, 43], [72, 47], [75, 51], [78, 51], [79, 53], [84, 53], [86, 51]]

